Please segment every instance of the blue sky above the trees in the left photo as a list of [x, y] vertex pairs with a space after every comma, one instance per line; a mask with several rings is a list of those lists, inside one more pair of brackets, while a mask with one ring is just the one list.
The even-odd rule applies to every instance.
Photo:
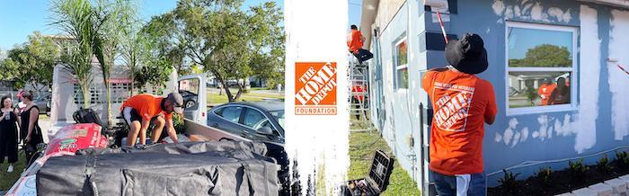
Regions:
[[[261, 4], [268, 0], [245, 0], [244, 7]], [[273, 0], [284, 6], [283, 0]], [[357, 0], [352, 0], [357, 1]], [[177, 0], [139, 0], [140, 16], [149, 20], [151, 16], [166, 13], [177, 5]], [[49, 0], [0, 0], [0, 49], [13, 49], [14, 44], [28, 40], [33, 31], [42, 34], [58, 34], [49, 26]]]

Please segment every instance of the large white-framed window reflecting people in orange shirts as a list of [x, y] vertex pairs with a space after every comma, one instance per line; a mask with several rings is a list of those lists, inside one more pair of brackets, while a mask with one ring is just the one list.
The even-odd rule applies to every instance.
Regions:
[[576, 106], [576, 29], [508, 22], [507, 111], [527, 113]]

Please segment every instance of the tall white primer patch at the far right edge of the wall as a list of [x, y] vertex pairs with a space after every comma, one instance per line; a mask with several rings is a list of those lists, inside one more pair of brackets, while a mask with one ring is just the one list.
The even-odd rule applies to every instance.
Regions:
[[627, 46], [629, 46], [629, 37], [626, 33], [629, 31], [629, 12], [613, 10], [611, 19], [611, 27], [609, 28], [609, 57], [614, 58], [617, 63], [607, 63], [607, 83], [609, 91], [612, 93], [612, 127], [614, 129], [614, 138], [622, 140], [629, 135], [629, 76], [625, 74], [616, 64], [620, 64], [625, 68], [629, 65], [629, 56], [627, 56]]

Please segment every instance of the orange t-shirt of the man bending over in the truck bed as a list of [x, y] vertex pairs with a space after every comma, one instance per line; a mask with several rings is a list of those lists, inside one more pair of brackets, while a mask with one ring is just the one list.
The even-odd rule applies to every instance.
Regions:
[[164, 113], [166, 120], [171, 120], [173, 119], [173, 113], [167, 113], [162, 110], [161, 104], [163, 99], [164, 97], [153, 94], [137, 94], [123, 102], [120, 111], [124, 110], [125, 107], [131, 107], [136, 109], [137, 114], [145, 120], [151, 120], [160, 113]]

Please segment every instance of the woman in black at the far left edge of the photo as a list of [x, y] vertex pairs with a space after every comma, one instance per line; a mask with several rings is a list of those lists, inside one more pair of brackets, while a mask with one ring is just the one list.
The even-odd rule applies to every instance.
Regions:
[[0, 100], [2, 103], [2, 114], [0, 114], [0, 164], [4, 163], [4, 156], [9, 157], [9, 167], [7, 173], [13, 172], [13, 164], [17, 162], [17, 115], [13, 111], [11, 97], [4, 96]]

